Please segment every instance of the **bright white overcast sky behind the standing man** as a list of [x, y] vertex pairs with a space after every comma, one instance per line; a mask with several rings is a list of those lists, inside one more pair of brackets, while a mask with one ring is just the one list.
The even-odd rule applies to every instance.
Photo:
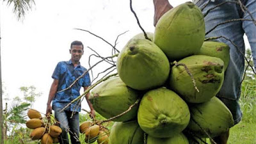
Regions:
[[[86, 29], [98, 35], [121, 50], [132, 36], [141, 33], [129, 0], [35, 0], [36, 5], [20, 22], [12, 12], [12, 5], [6, 2], [0, 7], [1, 26], [1, 67], [4, 92], [9, 97], [22, 95], [20, 86], [35, 86], [42, 96], [36, 98], [34, 109], [45, 113], [52, 72], [59, 61], [70, 60], [70, 43], [80, 40], [84, 44], [81, 65], [88, 68], [88, 56], [93, 52], [101, 56], [111, 56], [111, 46], [90, 35]], [[184, 0], [170, 1], [173, 6], [185, 3]], [[132, 7], [145, 31], [154, 33], [154, 5], [152, 0], [133, 0]], [[93, 63], [99, 61], [92, 58]], [[93, 69], [94, 76], [108, 68], [102, 63]], [[92, 75], [91, 75], [92, 77]], [[88, 109], [86, 101], [82, 108]]]

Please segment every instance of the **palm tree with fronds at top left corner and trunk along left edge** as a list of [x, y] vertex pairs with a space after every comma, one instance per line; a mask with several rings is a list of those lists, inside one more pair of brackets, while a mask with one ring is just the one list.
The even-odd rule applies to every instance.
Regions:
[[[17, 16], [18, 20], [23, 20], [26, 12], [35, 4], [34, 0], [3, 0], [10, 6], [13, 4], [13, 13]], [[1, 52], [1, 33], [0, 33], [0, 52]], [[2, 74], [1, 74], [1, 53], [0, 53], [0, 144], [4, 143], [3, 140], [3, 97], [2, 97]]]

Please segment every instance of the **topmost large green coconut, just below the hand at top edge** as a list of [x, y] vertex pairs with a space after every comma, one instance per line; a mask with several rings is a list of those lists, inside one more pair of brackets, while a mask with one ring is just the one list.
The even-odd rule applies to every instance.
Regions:
[[198, 52], [204, 37], [204, 15], [198, 6], [187, 2], [172, 8], [159, 19], [154, 43], [173, 61]]

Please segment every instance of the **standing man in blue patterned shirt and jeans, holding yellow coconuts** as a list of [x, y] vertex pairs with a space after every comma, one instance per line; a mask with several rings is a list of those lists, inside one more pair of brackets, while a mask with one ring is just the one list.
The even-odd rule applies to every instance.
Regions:
[[[81, 79], [79, 79], [72, 88], [65, 90], [63, 92], [57, 93], [65, 88], [68, 88], [77, 77], [81, 76], [86, 68], [80, 65], [79, 60], [81, 59], [84, 46], [82, 42], [74, 41], [70, 45], [71, 59], [69, 61], [61, 61], [56, 66], [52, 79], [53, 83], [51, 85], [51, 90], [49, 92], [49, 98], [47, 102], [46, 114], [52, 112], [54, 109], [54, 115], [56, 120], [60, 122], [60, 127], [62, 129], [60, 144], [68, 144], [68, 133], [70, 134], [70, 139], [72, 144], [80, 144], [79, 141], [79, 111], [81, 111], [80, 100], [72, 103], [64, 111], [61, 109], [65, 108], [68, 103], [76, 99], [80, 93], [80, 89], [83, 86], [84, 91], [90, 86], [90, 76], [89, 73], [85, 74]], [[91, 109], [91, 115], [95, 116], [95, 111], [92, 104], [88, 100], [88, 95], [86, 95], [86, 100]], [[51, 106], [52, 102], [52, 106]], [[74, 115], [72, 115], [74, 113]]]

